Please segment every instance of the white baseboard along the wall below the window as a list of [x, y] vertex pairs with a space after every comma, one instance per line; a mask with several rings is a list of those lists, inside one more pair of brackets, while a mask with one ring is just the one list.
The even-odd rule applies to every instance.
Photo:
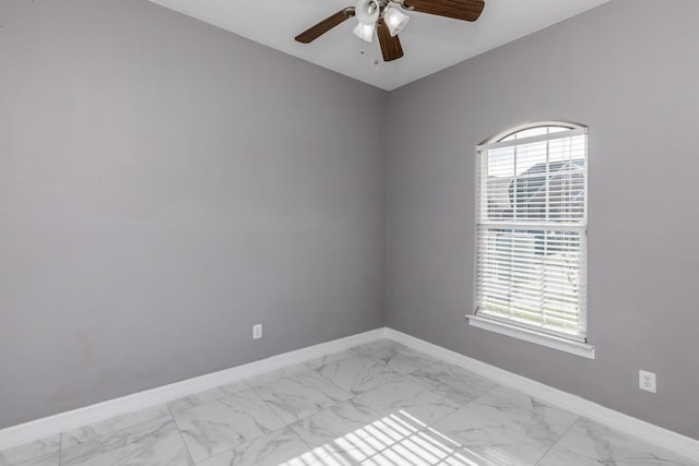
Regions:
[[508, 372], [459, 353], [434, 345], [393, 328], [386, 328], [386, 337], [402, 343], [435, 358], [460, 366], [502, 385], [511, 386], [549, 405], [579, 416], [584, 416], [604, 426], [633, 435], [688, 458], [699, 458], [699, 440], [682, 435], [655, 425], [624, 415], [577, 395], [553, 389], [522, 375]]

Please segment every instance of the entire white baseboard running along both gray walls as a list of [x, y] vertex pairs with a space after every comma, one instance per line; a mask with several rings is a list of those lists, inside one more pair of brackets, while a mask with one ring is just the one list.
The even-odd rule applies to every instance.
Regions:
[[667, 429], [632, 418], [621, 413], [605, 408], [596, 403], [576, 395], [553, 389], [522, 375], [508, 372], [459, 353], [434, 345], [405, 333], [392, 328], [377, 328], [374, 331], [352, 335], [320, 345], [309, 346], [295, 351], [272, 356], [260, 361], [250, 362], [220, 372], [159, 386], [120, 398], [61, 413], [55, 416], [37, 419], [19, 426], [0, 430], [0, 450], [21, 445], [34, 440], [44, 439], [60, 432], [82, 426], [98, 422], [115, 416], [143, 409], [165, 402], [188, 396], [220, 385], [234, 383], [264, 372], [282, 369], [287, 366], [305, 362], [313, 358], [341, 351], [353, 346], [389, 338], [402, 343], [416, 350], [426, 353], [435, 358], [460, 366], [478, 373], [502, 385], [534, 396], [553, 406], [567, 409], [579, 416], [626, 432], [649, 443], [662, 446], [689, 458], [699, 457], [699, 440], [695, 440]]

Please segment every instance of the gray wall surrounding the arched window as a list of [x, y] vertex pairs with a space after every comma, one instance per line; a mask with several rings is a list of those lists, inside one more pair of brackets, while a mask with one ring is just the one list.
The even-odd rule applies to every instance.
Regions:
[[[387, 324], [699, 438], [699, 2], [661, 3], [613, 0], [390, 94]], [[595, 360], [464, 321], [474, 146], [546, 119], [590, 128]]]

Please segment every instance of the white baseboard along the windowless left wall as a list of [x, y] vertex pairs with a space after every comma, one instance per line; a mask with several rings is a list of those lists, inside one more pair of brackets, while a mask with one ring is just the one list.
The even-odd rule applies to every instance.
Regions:
[[115, 416], [147, 408], [182, 396], [203, 392], [220, 385], [234, 383], [253, 375], [282, 369], [287, 366], [305, 362], [313, 358], [341, 351], [353, 346], [374, 342], [386, 336], [386, 328], [352, 335], [320, 345], [309, 346], [266, 359], [213, 372], [193, 379], [158, 386], [144, 392], [134, 393], [83, 408], [60, 413], [55, 416], [33, 420], [0, 430], [0, 451], [23, 443], [40, 440], [71, 429], [99, 422]]

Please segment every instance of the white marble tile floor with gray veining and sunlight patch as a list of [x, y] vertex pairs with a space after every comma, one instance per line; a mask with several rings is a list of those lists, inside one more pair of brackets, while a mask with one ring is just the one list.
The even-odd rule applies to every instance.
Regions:
[[390, 340], [0, 452], [0, 466], [699, 466]]

